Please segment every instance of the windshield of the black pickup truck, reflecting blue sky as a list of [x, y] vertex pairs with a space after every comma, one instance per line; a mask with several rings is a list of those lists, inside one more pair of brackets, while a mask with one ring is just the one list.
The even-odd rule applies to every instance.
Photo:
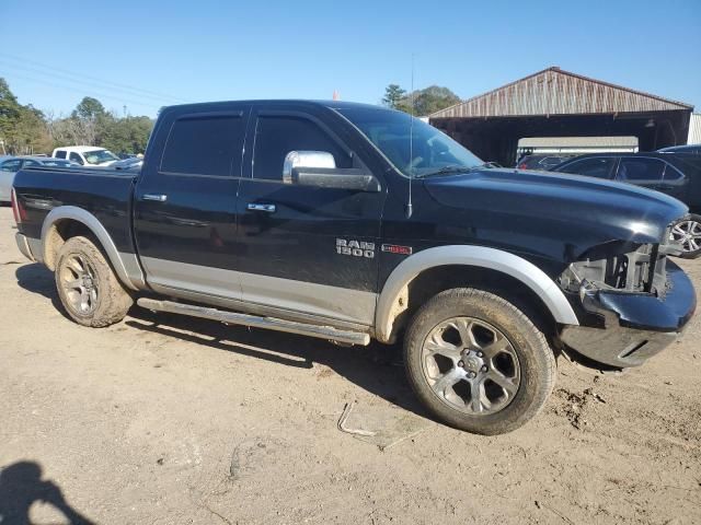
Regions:
[[[468, 171], [484, 164], [443, 131], [405, 113], [375, 108], [337, 109], [372, 142], [401, 173], [421, 177]], [[410, 128], [413, 140], [410, 148]]]

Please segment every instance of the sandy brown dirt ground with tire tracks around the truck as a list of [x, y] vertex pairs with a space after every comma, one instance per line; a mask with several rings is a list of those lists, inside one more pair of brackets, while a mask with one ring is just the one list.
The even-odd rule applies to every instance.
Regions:
[[[683, 261], [701, 289], [701, 260]], [[0, 209], [0, 514], [15, 523], [701, 523], [701, 315], [645, 366], [561, 360], [503, 436], [425, 418], [392, 349], [133, 308], [90, 329]], [[354, 410], [424, 430], [380, 450]], [[14, 516], [14, 517], [10, 517]]]

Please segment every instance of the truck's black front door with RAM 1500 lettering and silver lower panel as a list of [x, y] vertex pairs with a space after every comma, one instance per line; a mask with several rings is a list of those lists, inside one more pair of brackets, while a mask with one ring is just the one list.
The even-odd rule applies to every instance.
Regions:
[[361, 192], [283, 182], [290, 151], [331, 153], [353, 167], [353, 152], [312, 116], [257, 112], [239, 189], [239, 259], [245, 302], [371, 325], [384, 189]]

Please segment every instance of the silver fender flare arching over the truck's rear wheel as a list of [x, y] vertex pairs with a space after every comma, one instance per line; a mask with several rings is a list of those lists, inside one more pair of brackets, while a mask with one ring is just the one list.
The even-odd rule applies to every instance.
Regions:
[[[97, 241], [100, 241], [103, 249], [107, 254], [110, 262], [112, 262], [112, 267], [117, 273], [117, 277], [125, 287], [131, 290], [140, 290], [142, 288], [146, 288], [143, 273], [141, 272], [141, 267], [139, 266], [136, 254], [119, 253], [114, 242], [112, 241], [112, 237], [110, 236], [105, 228], [100, 223], [97, 218], [89, 211], [85, 211], [82, 208], [78, 208], [76, 206], [59, 206], [58, 208], [54, 208], [44, 219], [44, 224], [42, 225], [41, 249], [41, 257], [43, 261], [47, 260], [46, 237], [48, 235], [48, 232], [54, 224], [66, 219], [70, 219], [84, 224], [97, 237]], [[37, 257], [37, 254], [34, 255], [35, 257]]]

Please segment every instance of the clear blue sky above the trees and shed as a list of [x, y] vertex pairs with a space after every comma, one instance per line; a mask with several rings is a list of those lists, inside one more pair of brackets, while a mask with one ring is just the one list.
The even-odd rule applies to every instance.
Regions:
[[378, 103], [409, 89], [412, 52], [416, 88], [463, 98], [560, 66], [701, 110], [701, 0], [0, 0], [0, 77], [57, 115], [84, 95], [149, 116], [334, 90]]

